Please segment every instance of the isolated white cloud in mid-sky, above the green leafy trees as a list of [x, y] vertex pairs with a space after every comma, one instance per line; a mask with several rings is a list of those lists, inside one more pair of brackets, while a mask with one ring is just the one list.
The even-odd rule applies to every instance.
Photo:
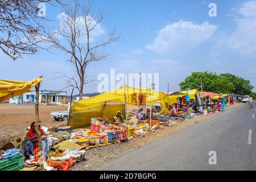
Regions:
[[217, 26], [204, 22], [201, 25], [180, 20], [162, 28], [147, 49], [161, 55], [181, 55], [189, 53], [208, 40], [217, 30]]

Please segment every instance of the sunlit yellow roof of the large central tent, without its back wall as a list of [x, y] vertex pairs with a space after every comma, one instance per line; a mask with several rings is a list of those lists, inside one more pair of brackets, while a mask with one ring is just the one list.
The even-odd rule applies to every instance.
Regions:
[[[146, 88], [134, 88], [134, 87], [126, 86], [127, 104], [133, 105], [133, 102], [131, 102], [131, 94], [134, 94], [134, 93], [146, 94], [147, 105], [150, 105], [150, 97], [151, 97], [151, 104], [155, 104], [156, 102], [162, 100], [162, 98], [167, 96], [167, 94], [165, 93], [155, 92], [154, 90], [151, 90], [151, 94], [150, 94], [149, 89], [146, 89]], [[91, 109], [93, 107], [104, 105], [104, 102], [108, 102], [108, 101], [125, 103], [125, 90], [123, 86], [121, 88], [112, 90], [110, 92], [102, 93], [98, 96], [90, 97], [90, 98], [87, 98], [86, 100], [75, 102], [75, 104], [72, 107], [72, 111], [82, 111], [86, 109]]]

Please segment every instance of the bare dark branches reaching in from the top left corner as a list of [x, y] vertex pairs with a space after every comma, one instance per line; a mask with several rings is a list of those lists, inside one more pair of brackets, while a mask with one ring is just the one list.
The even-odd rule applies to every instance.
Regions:
[[0, 0], [0, 49], [15, 60], [34, 54], [42, 41], [43, 28], [38, 16], [39, 3], [61, 4], [60, 0]]

